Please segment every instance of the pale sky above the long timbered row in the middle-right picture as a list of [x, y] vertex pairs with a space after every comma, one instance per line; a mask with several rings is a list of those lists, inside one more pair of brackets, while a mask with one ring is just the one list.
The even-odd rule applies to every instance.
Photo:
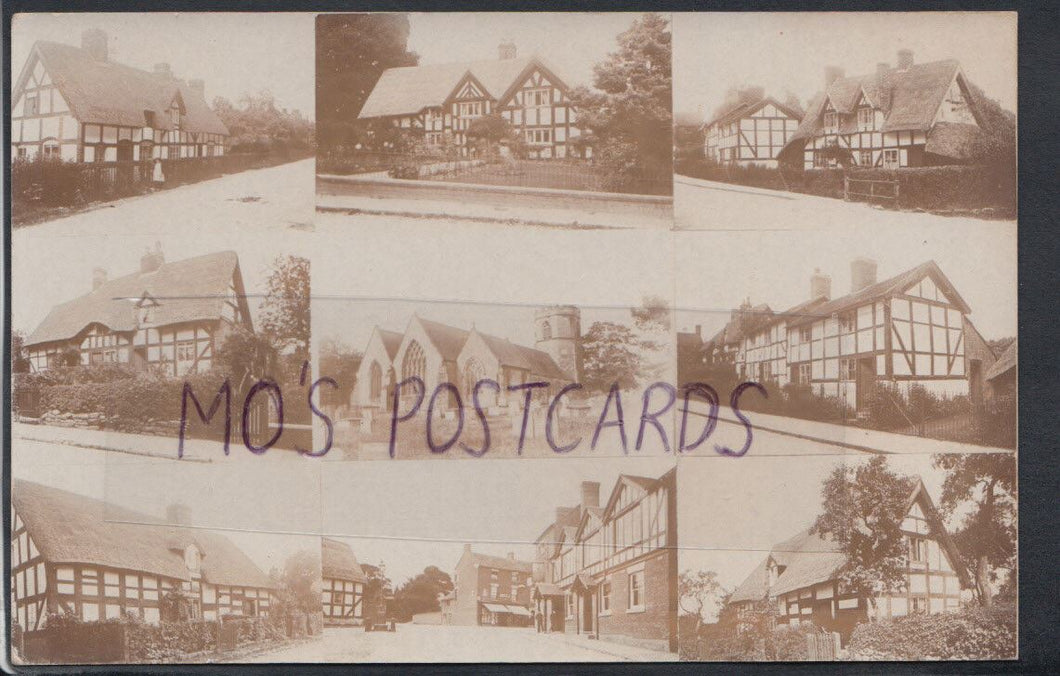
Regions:
[[[851, 234], [853, 233], [851, 229]], [[703, 326], [710, 337], [744, 298], [783, 312], [809, 299], [810, 277], [832, 278], [832, 298], [850, 290], [850, 262], [877, 261], [883, 281], [934, 260], [971, 306], [969, 315], [987, 340], [1017, 334], [1015, 224], [982, 221], [906, 228], [676, 233], [678, 331]], [[724, 251], [724, 255], [718, 255]], [[706, 264], [705, 264], [706, 262]]]

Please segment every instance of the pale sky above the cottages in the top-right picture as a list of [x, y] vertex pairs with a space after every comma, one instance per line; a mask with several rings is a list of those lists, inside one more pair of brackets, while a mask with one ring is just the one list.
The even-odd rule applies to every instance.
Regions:
[[675, 111], [709, 117], [730, 87], [758, 85], [806, 106], [824, 89], [827, 66], [847, 75], [895, 65], [960, 61], [968, 78], [1015, 111], [1015, 13], [706, 13], [673, 20]]

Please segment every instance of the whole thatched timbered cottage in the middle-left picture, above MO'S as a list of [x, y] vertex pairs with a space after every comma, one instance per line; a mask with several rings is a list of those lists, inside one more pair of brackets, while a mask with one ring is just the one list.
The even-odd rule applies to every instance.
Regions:
[[67, 364], [124, 363], [182, 376], [209, 371], [215, 351], [237, 326], [252, 331], [238, 256], [233, 251], [166, 263], [161, 248], [140, 269], [108, 280], [52, 308], [25, 339], [34, 371]]

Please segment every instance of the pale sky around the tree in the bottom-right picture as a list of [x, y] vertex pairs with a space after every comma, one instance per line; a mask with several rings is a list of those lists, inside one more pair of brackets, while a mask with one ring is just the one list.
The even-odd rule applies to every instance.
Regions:
[[[813, 524], [822, 509], [822, 483], [833, 468], [868, 459], [864, 453], [748, 456], [739, 462], [683, 458], [677, 470], [677, 569], [714, 571], [731, 591], [776, 542]], [[938, 505], [946, 473], [932, 466], [931, 456], [888, 456], [887, 465], [899, 475], [919, 476]], [[958, 514], [954, 520], [960, 518]]]

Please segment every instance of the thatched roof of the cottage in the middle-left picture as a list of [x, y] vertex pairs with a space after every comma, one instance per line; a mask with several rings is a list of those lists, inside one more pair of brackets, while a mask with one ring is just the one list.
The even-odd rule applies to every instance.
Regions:
[[70, 340], [92, 323], [114, 332], [136, 331], [137, 306], [128, 299], [141, 299], [145, 293], [158, 303], [152, 312], [152, 325], [218, 319], [237, 266], [234, 251], [220, 251], [110, 280], [90, 293], [53, 307], [25, 344]]

